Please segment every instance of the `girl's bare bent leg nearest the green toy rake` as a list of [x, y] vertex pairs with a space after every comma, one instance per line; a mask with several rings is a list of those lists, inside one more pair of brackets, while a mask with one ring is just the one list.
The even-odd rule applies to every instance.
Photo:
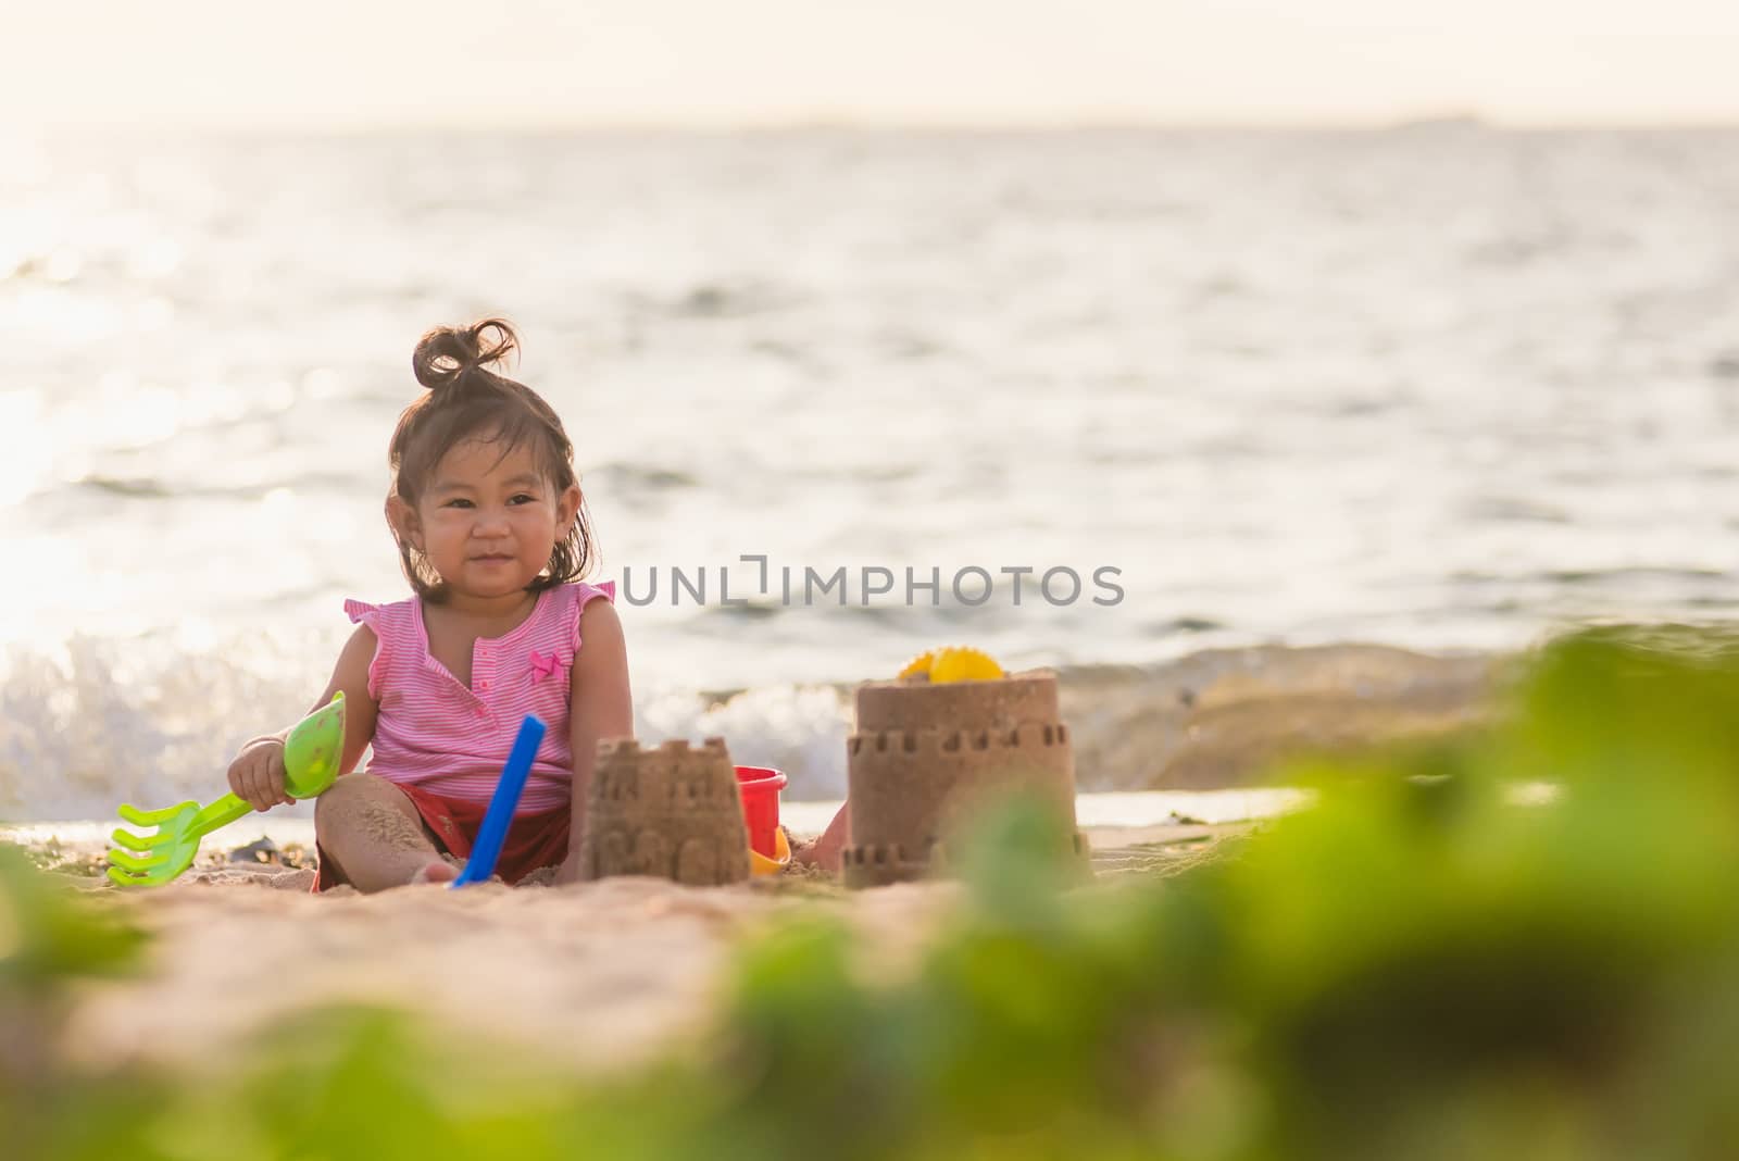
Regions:
[[336, 878], [358, 892], [459, 874], [405, 793], [372, 773], [346, 773], [315, 799], [315, 841]]

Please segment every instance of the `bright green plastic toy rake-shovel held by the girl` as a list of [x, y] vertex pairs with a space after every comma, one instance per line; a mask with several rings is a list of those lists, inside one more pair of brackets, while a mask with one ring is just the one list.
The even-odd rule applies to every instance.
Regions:
[[[290, 798], [315, 798], [337, 779], [344, 758], [344, 693], [308, 714], [283, 739], [283, 789]], [[193, 866], [200, 839], [221, 826], [242, 819], [252, 806], [247, 799], [224, 794], [209, 806], [181, 803], [163, 810], [139, 810], [122, 805], [123, 822], [157, 827], [155, 834], [117, 829], [110, 850], [110, 881], [120, 886], [162, 886]]]

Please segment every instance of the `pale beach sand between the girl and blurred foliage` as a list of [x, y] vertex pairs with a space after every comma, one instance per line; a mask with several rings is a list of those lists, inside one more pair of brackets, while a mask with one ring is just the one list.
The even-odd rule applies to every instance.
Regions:
[[[1099, 831], [1096, 866], [1103, 879], [1188, 867], [1247, 829]], [[897, 972], [958, 893], [951, 883], [845, 892], [830, 876], [788, 874], [713, 888], [609, 878], [310, 895], [310, 876], [233, 864], [157, 890], [75, 879], [157, 939], [136, 979], [82, 987], [61, 1052], [82, 1062], [226, 1067], [271, 1024], [363, 1001], [577, 1069], [621, 1067], [697, 1029], [737, 944], [798, 907], [843, 916], [870, 935], [863, 968]]]

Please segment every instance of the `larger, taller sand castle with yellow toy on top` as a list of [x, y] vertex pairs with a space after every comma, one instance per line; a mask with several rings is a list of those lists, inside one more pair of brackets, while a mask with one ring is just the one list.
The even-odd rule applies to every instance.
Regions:
[[[988, 673], [1002, 673], [983, 660]], [[918, 662], [908, 674], [857, 687], [857, 732], [847, 739], [845, 885], [882, 886], [944, 871], [943, 843], [953, 824], [988, 798], [1012, 793], [1056, 812], [1085, 874], [1057, 674], [1035, 669], [932, 681]]]

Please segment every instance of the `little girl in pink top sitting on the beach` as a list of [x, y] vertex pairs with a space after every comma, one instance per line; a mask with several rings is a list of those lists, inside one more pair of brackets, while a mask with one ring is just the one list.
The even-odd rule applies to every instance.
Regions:
[[[323, 706], [344, 692], [341, 777], [315, 801], [320, 879], [377, 892], [450, 879], [527, 713], [548, 726], [497, 872], [516, 883], [577, 850], [596, 742], [633, 733], [614, 584], [593, 560], [574, 445], [530, 388], [497, 375], [518, 337], [487, 318], [423, 335], [428, 395], [398, 417], [386, 521], [416, 594], [346, 601], [356, 631]], [[595, 600], [603, 598], [603, 600]], [[350, 773], [374, 746], [365, 773]], [[283, 793], [283, 733], [247, 742], [230, 787], [256, 810]]]

